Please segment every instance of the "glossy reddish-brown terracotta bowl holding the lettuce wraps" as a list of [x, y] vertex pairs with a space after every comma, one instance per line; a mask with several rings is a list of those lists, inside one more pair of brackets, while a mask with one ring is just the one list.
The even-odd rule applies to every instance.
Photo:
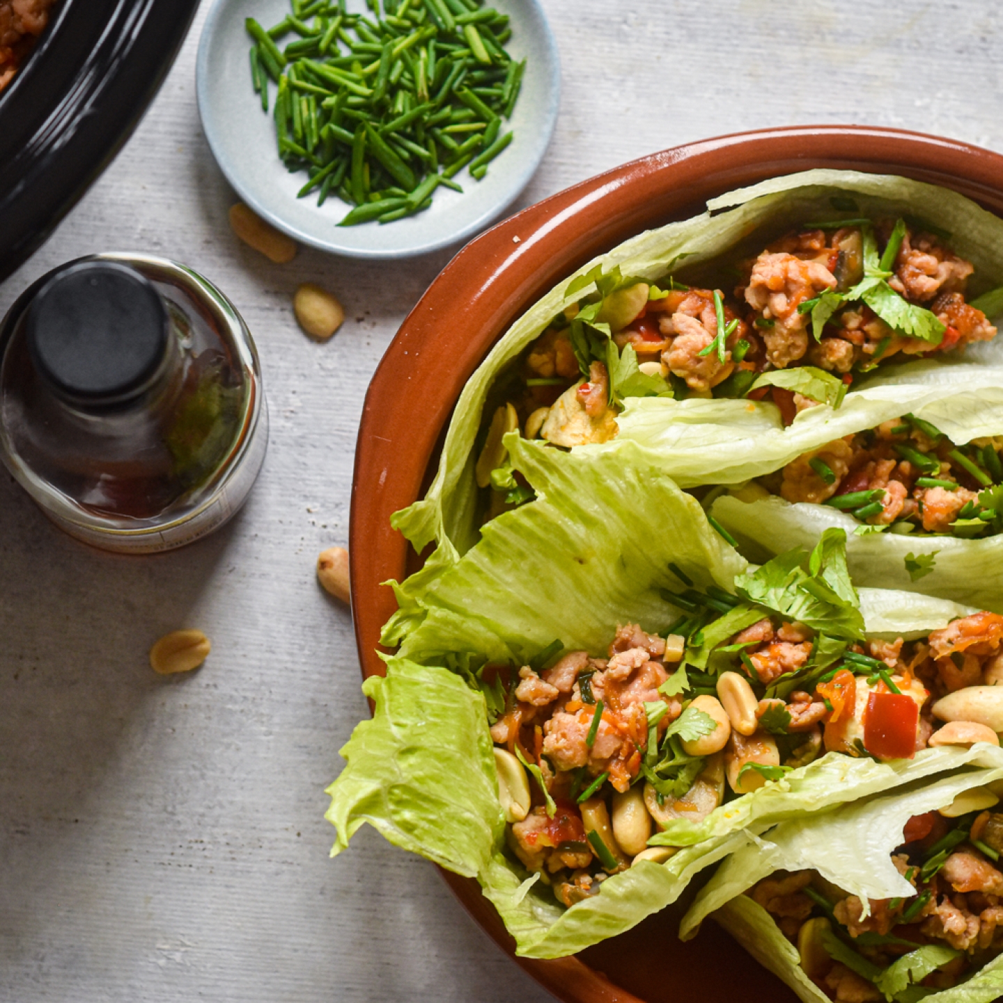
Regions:
[[[352, 611], [363, 673], [383, 672], [380, 626], [395, 609], [380, 585], [418, 566], [390, 515], [421, 495], [463, 384], [509, 325], [595, 255], [704, 209], [707, 199], [810, 168], [897, 174], [954, 189], [1003, 215], [1003, 156], [896, 129], [804, 126], [677, 146], [562, 192], [487, 231], [443, 270], [404, 321], [366, 395], [355, 454], [350, 529]], [[360, 556], [364, 555], [360, 559]], [[470, 915], [513, 954], [513, 941], [472, 880], [445, 874]], [[517, 959], [569, 1003], [794, 1000], [720, 929], [675, 936], [680, 908], [574, 958]]]

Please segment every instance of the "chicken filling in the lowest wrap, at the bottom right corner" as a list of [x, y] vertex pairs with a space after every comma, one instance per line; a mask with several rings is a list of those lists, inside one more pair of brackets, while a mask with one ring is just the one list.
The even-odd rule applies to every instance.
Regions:
[[952, 949], [920, 981], [931, 991], [964, 982], [1003, 950], [1003, 813], [952, 814], [948, 806], [909, 820], [892, 861], [915, 894], [871, 899], [868, 916], [857, 896], [811, 871], [778, 872], [746, 893], [770, 913], [797, 946], [805, 974], [837, 1003], [883, 1003], [875, 980], [924, 945]]

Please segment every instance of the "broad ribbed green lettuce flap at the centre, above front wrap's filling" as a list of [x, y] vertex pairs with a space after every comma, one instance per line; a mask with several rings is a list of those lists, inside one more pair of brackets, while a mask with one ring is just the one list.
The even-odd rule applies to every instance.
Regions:
[[514, 433], [506, 444], [537, 498], [492, 520], [444, 572], [405, 583], [408, 619], [394, 622], [402, 657], [518, 661], [555, 637], [603, 652], [617, 623], [665, 630], [678, 618], [661, 596], [675, 587], [669, 562], [700, 588], [730, 591], [744, 570], [699, 503], [634, 447], [567, 454]]

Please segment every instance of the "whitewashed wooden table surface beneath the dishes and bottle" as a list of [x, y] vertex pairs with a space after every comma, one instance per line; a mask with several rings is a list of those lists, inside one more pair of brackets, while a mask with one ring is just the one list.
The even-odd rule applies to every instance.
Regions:
[[[867, 122], [1003, 149], [993, 0], [544, 3], [564, 90], [524, 204], [757, 126]], [[0, 312], [88, 252], [185, 261], [255, 334], [271, 444], [245, 512], [158, 558], [76, 544], [0, 476], [0, 1001], [548, 999], [430, 865], [369, 830], [327, 858], [323, 788], [366, 707], [349, 615], [313, 564], [346, 540], [370, 375], [449, 255], [304, 250], [279, 267], [239, 245], [196, 111], [204, 16], [114, 163], [0, 285]], [[328, 344], [291, 315], [307, 280], [348, 311]], [[209, 661], [154, 676], [150, 643], [187, 626], [212, 638]]]

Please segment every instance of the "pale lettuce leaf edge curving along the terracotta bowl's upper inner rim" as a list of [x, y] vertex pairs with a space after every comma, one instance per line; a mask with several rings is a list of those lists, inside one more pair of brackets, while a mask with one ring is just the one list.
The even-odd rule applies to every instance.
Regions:
[[[1003, 221], [955, 192], [889, 175], [817, 170], [786, 175], [728, 193], [709, 202], [708, 211], [700, 216], [639, 234], [586, 263], [577, 273], [564, 278], [509, 328], [467, 381], [456, 402], [438, 470], [427, 494], [399, 513], [394, 520], [395, 527], [419, 551], [428, 543], [437, 542], [444, 549], [440, 559], [443, 564], [457, 561], [473, 545], [477, 528], [474, 525], [471, 452], [488, 391], [497, 375], [513, 364], [551, 320], [588, 294], [597, 282], [607, 280], [616, 285], [624, 281], [650, 283], [661, 280], [683, 257], [687, 267], [698, 266], [720, 257], [760, 227], [800, 226], [819, 214], [831, 215], [830, 200], [847, 197], [852, 197], [861, 214], [871, 219], [918, 216], [953, 232], [953, 249], [975, 266], [971, 284], [975, 296], [1003, 285], [1003, 255], [1000, 253]], [[631, 278], [624, 280], [622, 276]], [[992, 314], [990, 317], [993, 319]], [[1000, 359], [1003, 359], [1003, 345], [993, 341], [969, 346], [964, 356], [954, 353], [950, 358], [907, 362], [888, 369], [883, 366], [881, 372], [886, 379], [897, 375], [912, 380], [916, 376], [949, 369], [969, 372]], [[872, 380], [877, 378], [877, 374], [870, 377]], [[665, 400], [629, 399], [639, 403]], [[745, 405], [743, 401], [721, 403], [734, 403], [739, 409]], [[847, 402], [841, 410], [846, 406]], [[775, 419], [773, 405], [759, 407]], [[674, 418], [677, 412], [657, 413], [663, 418]], [[732, 445], [735, 444], [733, 441]], [[725, 459], [725, 465], [733, 463], [735, 452]], [[711, 465], [709, 469], [712, 472], [714, 467]], [[751, 475], [754, 474], [738, 479]]]

